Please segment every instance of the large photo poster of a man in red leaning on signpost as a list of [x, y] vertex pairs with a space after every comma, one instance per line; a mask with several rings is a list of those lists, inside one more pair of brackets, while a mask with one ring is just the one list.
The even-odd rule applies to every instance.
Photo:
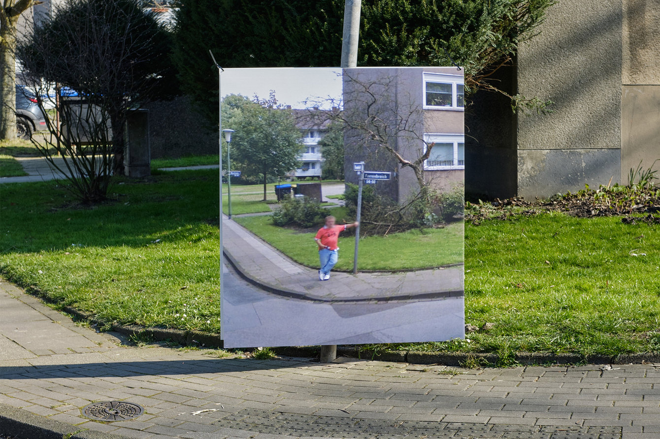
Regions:
[[224, 346], [464, 337], [463, 71], [225, 69], [220, 83], [223, 205], [242, 199], [221, 222]]

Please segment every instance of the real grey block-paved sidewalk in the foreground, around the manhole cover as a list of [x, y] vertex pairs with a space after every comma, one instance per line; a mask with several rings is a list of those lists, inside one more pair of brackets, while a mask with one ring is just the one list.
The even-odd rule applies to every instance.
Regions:
[[[660, 437], [660, 365], [469, 370], [218, 358], [122, 347], [4, 282], [0, 310], [0, 404], [81, 429], [162, 439]], [[145, 414], [82, 417], [88, 403], [108, 400]]]

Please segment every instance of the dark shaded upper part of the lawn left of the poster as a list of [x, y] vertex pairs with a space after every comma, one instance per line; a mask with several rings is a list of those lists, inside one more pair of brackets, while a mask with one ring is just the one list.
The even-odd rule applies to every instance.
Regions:
[[218, 223], [216, 179], [213, 170], [116, 179], [95, 206], [57, 182], [3, 185], [0, 254], [194, 241], [199, 227]]

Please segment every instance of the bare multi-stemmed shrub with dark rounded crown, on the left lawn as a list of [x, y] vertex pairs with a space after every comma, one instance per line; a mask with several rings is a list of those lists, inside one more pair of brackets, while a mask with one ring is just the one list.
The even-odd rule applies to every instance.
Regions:
[[131, 108], [174, 91], [169, 38], [138, 1], [67, 0], [18, 45], [46, 113], [49, 136], [35, 143], [51, 164], [53, 152], [63, 158], [59, 170], [82, 200], [101, 200], [110, 176], [123, 173]]

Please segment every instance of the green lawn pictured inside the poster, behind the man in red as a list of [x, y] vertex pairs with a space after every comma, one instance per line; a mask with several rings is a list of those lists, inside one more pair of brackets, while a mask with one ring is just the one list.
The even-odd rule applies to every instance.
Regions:
[[[328, 213], [339, 218], [340, 222], [351, 221], [352, 218], [346, 218], [345, 212], [345, 208], [333, 208]], [[318, 265], [314, 243], [316, 231], [302, 233], [277, 227], [271, 223], [269, 216], [236, 218], [236, 222], [301, 264]], [[352, 270], [354, 243], [354, 236], [339, 238], [341, 256], [337, 270]], [[424, 233], [412, 230], [360, 240], [360, 270], [402, 270], [456, 262], [463, 262], [463, 223], [453, 223], [444, 229], [430, 229]]]

